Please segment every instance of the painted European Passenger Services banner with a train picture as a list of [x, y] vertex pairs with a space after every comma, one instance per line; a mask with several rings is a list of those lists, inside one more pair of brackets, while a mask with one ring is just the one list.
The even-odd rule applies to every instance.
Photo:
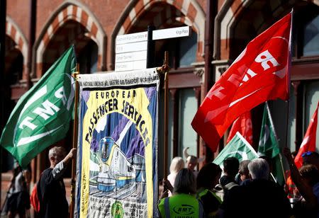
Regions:
[[152, 217], [159, 76], [86, 74], [79, 87], [77, 217]]

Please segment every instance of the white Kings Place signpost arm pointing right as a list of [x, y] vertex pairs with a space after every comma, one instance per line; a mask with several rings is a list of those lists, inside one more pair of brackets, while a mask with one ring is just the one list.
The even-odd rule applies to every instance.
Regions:
[[189, 36], [191, 34], [190, 26], [182, 26], [180, 28], [168, 28], [162, 30], [153, 30], [152, 40], [162, 40], [169, 38], [178, 38]]

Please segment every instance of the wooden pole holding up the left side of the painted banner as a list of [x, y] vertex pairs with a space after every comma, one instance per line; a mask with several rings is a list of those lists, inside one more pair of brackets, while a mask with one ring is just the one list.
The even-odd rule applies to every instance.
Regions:
[[[79, 102], [79, 64], [77, 64], [77, 71], [72, 74], [75, 83], [75, 93], [74, 93], [74, 123], [73, 123], [73, 137], [72, 137], [72, 145], [73, 148], [77, 148], [77, 126], [79, 123], [79, 117], [77, 115], [78, 111], [78, 102]], [[77, 157], [75, 156], [72, 159], [72, 178], [71, 178], [71, 202], [69, 208], [69, 217], [74, 217], [74, 193], [75, 193], [75, 176], [77, 171]]]

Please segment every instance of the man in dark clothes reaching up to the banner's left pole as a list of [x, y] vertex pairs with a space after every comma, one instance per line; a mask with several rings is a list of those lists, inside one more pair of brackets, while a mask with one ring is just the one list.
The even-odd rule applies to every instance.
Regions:
[[69, 205], [65, 197], [65, 183], [62, 176], [69, 161], [76, 156], [76, 151], [77, 149], [71, 149], [66, 155], [63, 147], [52, 147], [49, 150], [50, 168], [43, 171], [37, 185], [41, 218], [69, 216]]

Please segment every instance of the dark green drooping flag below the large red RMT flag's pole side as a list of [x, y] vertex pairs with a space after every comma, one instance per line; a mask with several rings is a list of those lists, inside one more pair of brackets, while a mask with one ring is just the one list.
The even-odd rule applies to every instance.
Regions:
[[272, 161], [272, 174], [276, 178], [279, 185], [284, 185], [284, 171], [281, 164], [281, 154], [279, 149], [279, 142], [274, 130], [272, 116], [267, 102], [264, 105], [264, 115], [262, 117], [262, 130], [260, 131], [259, 156], [267, 156]]

